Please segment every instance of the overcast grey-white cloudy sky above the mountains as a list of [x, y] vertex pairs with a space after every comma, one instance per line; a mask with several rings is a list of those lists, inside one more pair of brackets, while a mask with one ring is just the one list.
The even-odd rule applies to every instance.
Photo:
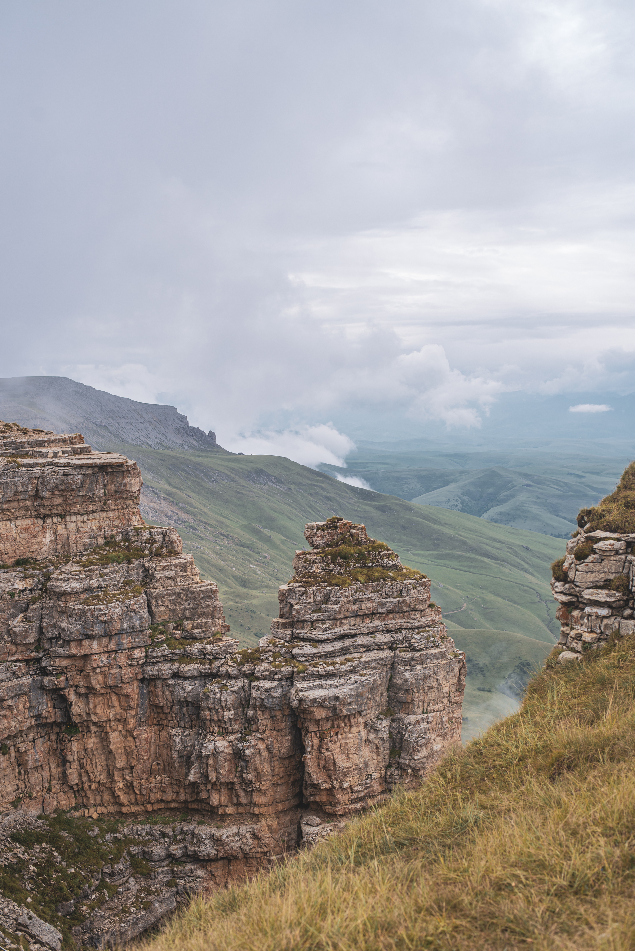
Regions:
[[612, 0], [2, 5], [0, 376], [312, 464], [510, 395], [601, 420], [634, 46]]

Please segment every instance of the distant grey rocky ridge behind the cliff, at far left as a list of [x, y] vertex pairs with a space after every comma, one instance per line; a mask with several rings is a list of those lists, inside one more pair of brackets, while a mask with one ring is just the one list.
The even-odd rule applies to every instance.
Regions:
[[0, 378], [0, 419], [31, 429], [82, 433], [99, 450], [125, 442], [152, 449], [226, 452], [215, 433], [190, 426], [174, 406], [116, 397], [67, 377]]

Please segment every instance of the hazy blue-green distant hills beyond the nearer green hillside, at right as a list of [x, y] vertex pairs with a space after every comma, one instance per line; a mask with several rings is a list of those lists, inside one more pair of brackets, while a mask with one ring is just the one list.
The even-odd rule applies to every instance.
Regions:
[[531, 532], [568, 536], [575, 516], [611, 492], [626, 460], [548, 453], [380, 452], [360, 449], [346, 470], [379, 492]]

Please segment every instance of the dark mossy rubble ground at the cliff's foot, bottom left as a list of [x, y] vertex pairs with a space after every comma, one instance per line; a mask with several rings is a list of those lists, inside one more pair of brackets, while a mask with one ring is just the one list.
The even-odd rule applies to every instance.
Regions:
[[[315, 844], [341, 825], [314, 811], [298, 822], [298, 835]], [[252, 836], [251, 825], [187, 813], [130, 822], [11, 811], [0, 821], [2, 946], [60, 951], [129, 941], [210, 888], [219, 855], [230, 864]]]

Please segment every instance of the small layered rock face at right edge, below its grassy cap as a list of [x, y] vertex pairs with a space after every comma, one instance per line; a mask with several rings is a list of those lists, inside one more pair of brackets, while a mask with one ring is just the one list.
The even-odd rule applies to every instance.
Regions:
[[635, 632], [635, 534], [580, 532], [567, 543], [551, 589], [560, 607], [561, 657], [606, 643], [613, 633]]

